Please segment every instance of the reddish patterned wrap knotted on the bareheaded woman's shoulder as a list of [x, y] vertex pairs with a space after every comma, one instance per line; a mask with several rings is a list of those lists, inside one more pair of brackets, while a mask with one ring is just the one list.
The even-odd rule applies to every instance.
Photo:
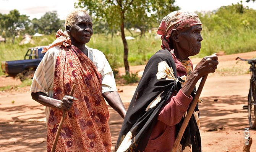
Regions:
[[[58, 34], [58, 35], [57, 35]], [[101, 91], [101, 76], [91, 60], [77, 47], [70, 45], [62, 31], [57, 40], [45, 49], [60, 45], [56, 60], [53, 98], [62, 100], [76, 84], [74, 101], [64, 121], [55, 152], [110, 152], [109, 111]], [[58, 39], [59, 38], [59, 39]], [[61, 40], [60, 40], [61, 39]], [[64, 45], [69, 44], [69, 45]], [[50, 152], [63, 111], [51, 108], [47, 122], [47, 151]]]

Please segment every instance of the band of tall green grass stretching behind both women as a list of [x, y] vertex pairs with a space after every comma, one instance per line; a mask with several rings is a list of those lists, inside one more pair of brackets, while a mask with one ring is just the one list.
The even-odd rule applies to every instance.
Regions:
[[[224, 51], [226, 54], [256, 51], [256, 30], [254, 29], [241, 28], [223, 32], [210, 31], [203, 26], [201, 34], [203, 36], [202, 48], [195, 57], [204, 57], [219, 51]], [[21, 38], [16, 38], [15, 44], [9, 41], [0, 43], [0, 61], [22, 60], [29, 47], [48, 45], [55, 40], [55, 35], [34, 37], [33, 40], [35, 44], [21, 46], [18, 44]], [[127, 40], [127, 42], [128, 61], [131, 66], [146, 64], [161, 45], [160, 37], [154, 33], [146, 33], [141, 38], [134, 36], [134, 40]], [[123, 67], [123, 42], [120, 35], [111, 38], [111, 35], [94, 34], [86, 45], [102, 51], [112, 68]], [[2, 74], [1, 70], [0, 75]]]

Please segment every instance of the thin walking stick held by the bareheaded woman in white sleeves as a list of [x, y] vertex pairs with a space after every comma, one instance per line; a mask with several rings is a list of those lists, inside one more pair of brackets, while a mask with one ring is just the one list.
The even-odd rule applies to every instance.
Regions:
[[[76, 85], [73, 84], [69, 96], [71, 96], [71, 97], [73, 96], [75, 88], [76, 88]], [[55, 138], [54, 138], [54, 141], [53, 141], [53, 144], [52, 144], [51, 152], [55, 152], [55, 148], [56, 148], [56, 146], [57, 146], [57, 142], [58, 142], [58, 139], [59, 139], [59, 136], [60, 136], [60, 131], [62, 130], [62, 126], [63, 126], [64, 120], [65, 120], [65, 118], [66, 118], [66, 113], [67, 113], [67, 112], [68, 112], [68, 111], [66, 111], [66, 110], [63, 111], [62, 119], [60, 120], [60, 124], [59, 124], [57, 133], [56, 133], [56, 135], [55, 135]]]

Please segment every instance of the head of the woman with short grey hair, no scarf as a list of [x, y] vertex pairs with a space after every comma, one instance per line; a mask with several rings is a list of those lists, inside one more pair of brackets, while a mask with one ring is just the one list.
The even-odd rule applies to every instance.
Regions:
[[92, 34], [92, 19], [89, 14], [83, 12], [78, 13], [74, 25], [70, 27], [69, 35], [73, 37], [71, 40], [75, 41], [72, 43], [88, 43]]

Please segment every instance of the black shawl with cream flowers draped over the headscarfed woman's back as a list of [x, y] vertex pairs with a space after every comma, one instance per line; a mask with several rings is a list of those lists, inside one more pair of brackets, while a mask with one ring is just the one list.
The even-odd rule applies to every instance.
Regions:
[[176, 76], [175, 62], [167, 49], [152, 55], [126, 112], [115, 152], [144, 151], [158, 113], [175, 89]]

